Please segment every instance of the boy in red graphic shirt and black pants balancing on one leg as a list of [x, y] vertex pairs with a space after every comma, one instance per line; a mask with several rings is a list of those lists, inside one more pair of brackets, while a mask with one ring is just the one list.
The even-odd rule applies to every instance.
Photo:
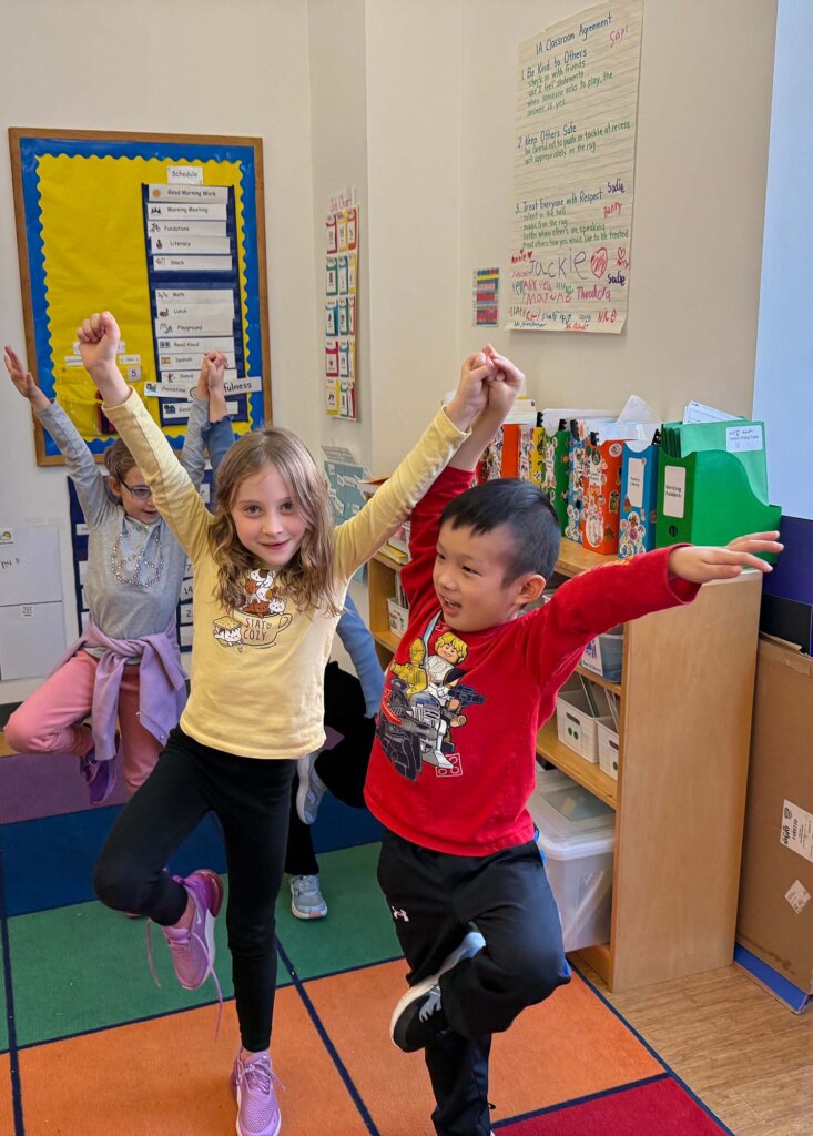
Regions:
[[410, 623], [366, 787], [387, 829], [378, 880], [410, 966], [393, 1041], [426, 1051], [438, 1136], [488, 1136], [491, 1035], [570, 980], [526, 809], [558, 691], [600, 633], [687, 603], [745, 566], [770, 571], [755, 553], [781, 550], [777, 533], [659, 549], [585, 573], [526, 611], [553, 573], [560, 528], [531, 483], [469, 488], [522, 383], [485, 351], [500, 379], [488, 407], [412, 513], [401, 576]]

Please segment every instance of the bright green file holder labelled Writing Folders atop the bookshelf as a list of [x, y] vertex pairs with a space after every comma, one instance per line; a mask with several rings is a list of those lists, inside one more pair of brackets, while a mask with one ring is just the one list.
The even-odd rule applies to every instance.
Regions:
[[[738, 456], [723, 450], [661, 453], [655, 546], [728, 544], [735, 536], [779, 528], [782, 510], [753, 491]], [[773, 561], [772, 556], [764, 556]]]

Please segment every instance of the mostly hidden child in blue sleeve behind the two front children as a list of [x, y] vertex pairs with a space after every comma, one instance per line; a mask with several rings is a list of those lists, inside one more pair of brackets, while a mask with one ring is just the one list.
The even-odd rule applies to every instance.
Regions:
[[327, 914], [310, 825], [328, 791], [354, 809], [364, 808], [364, 777], [384, 690], [384, 671], [372, 635], [350, 593], [344, 598], [336, 634], [359, 677], [341, 670], [337, 662], [328, 662], [325, 725], [341, 737], [332, 749], [309, 753], [296, 762], [299, 777], [291, 799], [285, 871], [291, 876], [291, 910], [297, 919], [321, 919]]

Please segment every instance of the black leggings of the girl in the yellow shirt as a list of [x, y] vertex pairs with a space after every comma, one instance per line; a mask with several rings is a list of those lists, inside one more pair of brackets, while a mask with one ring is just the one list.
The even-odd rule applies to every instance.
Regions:
[[223, 827], [226, 925], [244, 1049], [268, 1049], [277, 977], [274, 905], [283, 877], [295, 762], [238, 758], [177, 727], [158, 765], [114, 825], [93, 886], [109, 908], [169, 927], [186, 892], [165, 864], [207, 812]]

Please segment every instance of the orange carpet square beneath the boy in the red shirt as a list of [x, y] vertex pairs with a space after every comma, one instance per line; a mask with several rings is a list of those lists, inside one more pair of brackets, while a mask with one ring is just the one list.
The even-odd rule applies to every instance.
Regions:
[[[404, 963], [392, 962], [307, 984], [372, 1120], [387, 1136], [426, 1136], [433, 1099], [422, 1054], [389, 1039], [404, 991]], [[489, 1099], [494, 1120], [521, 1116], [663, 1071], [663, 1066], [589, 987], [567, 987], [527, 1010], [495, 1037]]]

